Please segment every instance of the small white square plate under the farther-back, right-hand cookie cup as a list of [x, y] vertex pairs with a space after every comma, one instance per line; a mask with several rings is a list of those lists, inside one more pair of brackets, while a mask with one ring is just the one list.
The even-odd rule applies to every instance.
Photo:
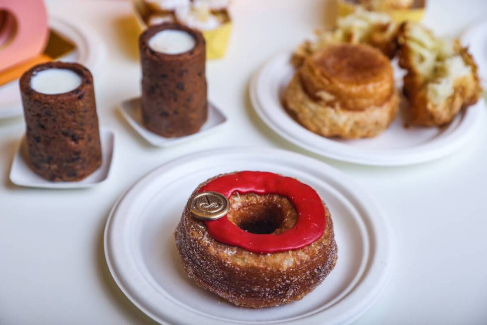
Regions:
[[157, 147], [167, 147], [201, 137], [205, 134], [216, 131], [227, 122], [227, 116], [225, 116], [225, 114], [215, 105], [208, 103], [208, 118], [197, 133], [176, 138], [166, 138], [145, 128], [142, 122], [142, 114], [140, 113], [140, 98], [133, 98], [123, 102], [120, 105], [120, 112], [127, 122], [129, 122], [129, 124], [144, 139], [146, 139], [147, 142]]

